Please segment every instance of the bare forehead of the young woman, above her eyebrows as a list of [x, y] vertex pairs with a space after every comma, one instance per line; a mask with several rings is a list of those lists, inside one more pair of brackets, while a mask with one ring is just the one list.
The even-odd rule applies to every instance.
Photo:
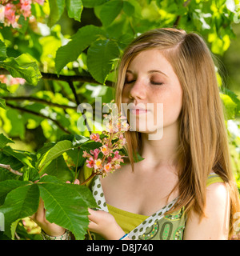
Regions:
[[167, 75], [174, 73], [170, 62], [164, 57], [162, 51], [158, 49], [143, 50], [140, 52], [130, 61], [127, 70], [130, 70], [134, 74], [148, 72], [150, 70], [160, 70]]

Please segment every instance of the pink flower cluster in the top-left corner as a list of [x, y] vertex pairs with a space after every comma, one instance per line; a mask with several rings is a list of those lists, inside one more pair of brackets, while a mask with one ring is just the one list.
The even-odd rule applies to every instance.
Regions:
[[4, 23], [5, 26], [18, 28], [18, 19], [21, 14], [25, 19], [30, 17], [32, 3], [43, 5], [44, 0], [19, 0], [18, 3], [12, 3], [10, 0], [1, 0], [0, 22]]

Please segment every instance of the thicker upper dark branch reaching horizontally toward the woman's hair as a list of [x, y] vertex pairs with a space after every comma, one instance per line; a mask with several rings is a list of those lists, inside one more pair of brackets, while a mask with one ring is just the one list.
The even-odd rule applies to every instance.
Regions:
[[[0, 69], [0, 74], [10, 74], [10, 72], [5, 69]], [[92, 78], [90, 76], [63, 75], [63, 74], [57, 75], [57, 74], [50, 74], [50, 73], [44, 73], [44, 72], [41, 72], [41, 74], [42, 74], [42, 79], [46, 79], [46, 80], [57, 80], [57, 81], [65, 81], [65, 82], [78, 81], [78, 82], [89, 82], [89, 83], [94, 83], [94, 84], [98, 84], [98, 85], [100, 84], [94, 78]], [[106, 84], [106, 86], [113, 86], [112, 82], [110, 82], [110, 81], [106, 81], [105, 84]]]

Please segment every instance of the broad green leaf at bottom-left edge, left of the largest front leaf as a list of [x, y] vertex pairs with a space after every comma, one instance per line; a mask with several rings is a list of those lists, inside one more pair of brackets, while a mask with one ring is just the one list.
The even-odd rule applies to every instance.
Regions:
[[10, 226], [19, 218], [26, 218], [38, 210], [39, 189], [38, 185], [32, 183], [19, 186], [7, 194], [0, 212], [5, 216], [5, 233], [11, 237]]

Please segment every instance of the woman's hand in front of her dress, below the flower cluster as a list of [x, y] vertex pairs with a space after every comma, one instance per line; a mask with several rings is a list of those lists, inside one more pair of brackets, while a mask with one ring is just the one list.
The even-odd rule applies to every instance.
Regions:
[[90, 213], [88, 216], [90, 231], [102, 235], [106, 240], [118, 240], [125, 234], [113, 215], [103, 210], [88, 209], [88, 211]]

